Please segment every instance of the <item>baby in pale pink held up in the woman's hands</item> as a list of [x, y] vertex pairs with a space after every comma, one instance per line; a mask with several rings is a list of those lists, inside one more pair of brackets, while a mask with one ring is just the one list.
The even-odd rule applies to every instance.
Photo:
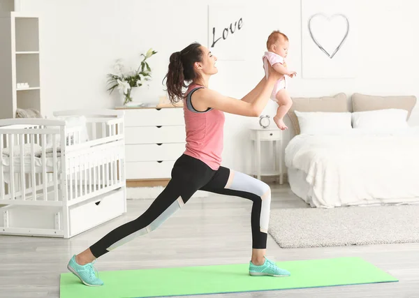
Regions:
[[277, 80], [272, 90], [271, 99], [276, 101], [279, 105], [277, 114], [274, 117], [274, 122], [277, 124], [281, 131], [286, 130], [288, 127], [284, 124], [284, 116], [286, 112], [293, 105], [291, 97], [286, 91], [286, 75], [294, 77], [295, 71], [290, 71], [286, 68], [284, 59], [288, 54], [288, 37], [280, 31], [273, 31], [267, 38], [267, 52], [263, 55], [263, 66], [265, 68], [265, 75], [267, 77], [267, 64], [269, 63], [274, 70], [284, 75], [281, 79]]

